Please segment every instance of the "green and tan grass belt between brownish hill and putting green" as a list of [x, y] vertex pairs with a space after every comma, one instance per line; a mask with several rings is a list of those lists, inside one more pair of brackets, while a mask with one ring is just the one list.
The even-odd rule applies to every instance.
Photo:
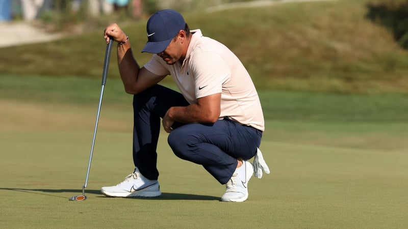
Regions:
[[[172, 84], [166, 84], [173, 87]], [[0, 118], [7, 130], [91, 130], [100, 80], [79, 77], [0, 78]], [[266, 119], [264, 139], [323, 146], [406, 151], [408, 96], [346, 95], [259, 90]], [[42, 104], [37, 106], [36, 104]], [[132, 96], [108, 78], [100, 124], [131, 131]], [[31, 113], [31, 121], [25, 117]], [[33, 123], [34, 122], [34, 123]], [[42, 123], [36, 125], [35, 123]], [[72, 123], [79, 123], [74, 125]], [[1, 128], [0, 128], [1, 129]]]

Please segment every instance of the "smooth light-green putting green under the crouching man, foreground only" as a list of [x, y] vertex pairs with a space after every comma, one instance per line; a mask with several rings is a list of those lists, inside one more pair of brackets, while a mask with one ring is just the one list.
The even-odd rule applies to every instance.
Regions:
[[221, 203], [224, 186], [176, 158], [160, 139], [163, 196], [109, 198], [133, 169], [131, 133], [97, 134], [83, 202], [92, 130], [0, 132], [0, 220], [5, 228], [403, 228], [408, 155], [264, 141], [270, 175], [252, 178], [245, 203]]

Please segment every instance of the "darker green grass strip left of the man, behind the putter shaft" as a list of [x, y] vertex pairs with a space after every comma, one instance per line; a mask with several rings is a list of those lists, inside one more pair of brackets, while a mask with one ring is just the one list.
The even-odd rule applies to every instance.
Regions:
[[[59, 103], [84, 103], [98, 101], [101, 90], [101, 77], [50, 77], [3, 75], [0, 77], [0, 98], [14, 98], [25, 101], [46, 101]], [[107, 95], [107, 96], [105, 96]], [[119, 79], [108, 77], [104, 96], [108, 101], [124, 104], [132, 99], [124, 93]]]

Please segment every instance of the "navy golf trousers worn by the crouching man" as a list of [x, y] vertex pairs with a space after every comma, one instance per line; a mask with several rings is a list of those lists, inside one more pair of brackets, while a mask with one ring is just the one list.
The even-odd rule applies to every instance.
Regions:
[[[133, 161], [140, 173], [157, 180], [157, 144], [161, 120], [172, 106], [189, 103], [179, 92], [156, 84], [134, 95]], [[237, 167], [237, 158], [252, 158], [261, 144], [262, 131], [228, 118], [213, 124], [174, 123], [168, 144], [181, 159], [202, 165], [225, 184]]]

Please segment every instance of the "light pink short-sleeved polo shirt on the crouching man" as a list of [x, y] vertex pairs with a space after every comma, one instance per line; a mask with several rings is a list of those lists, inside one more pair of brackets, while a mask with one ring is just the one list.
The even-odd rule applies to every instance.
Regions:
[[258, 93], [251, 77], [237, 56], [226, 46], [200, 30], [192, 30], [191, 41], [183, 64], [167, 65], [154, 54], [144, 67], [156, 75], [171, 75], [186, 100], [221, 93], [220, 119], [232, 120], [265, 130]]

